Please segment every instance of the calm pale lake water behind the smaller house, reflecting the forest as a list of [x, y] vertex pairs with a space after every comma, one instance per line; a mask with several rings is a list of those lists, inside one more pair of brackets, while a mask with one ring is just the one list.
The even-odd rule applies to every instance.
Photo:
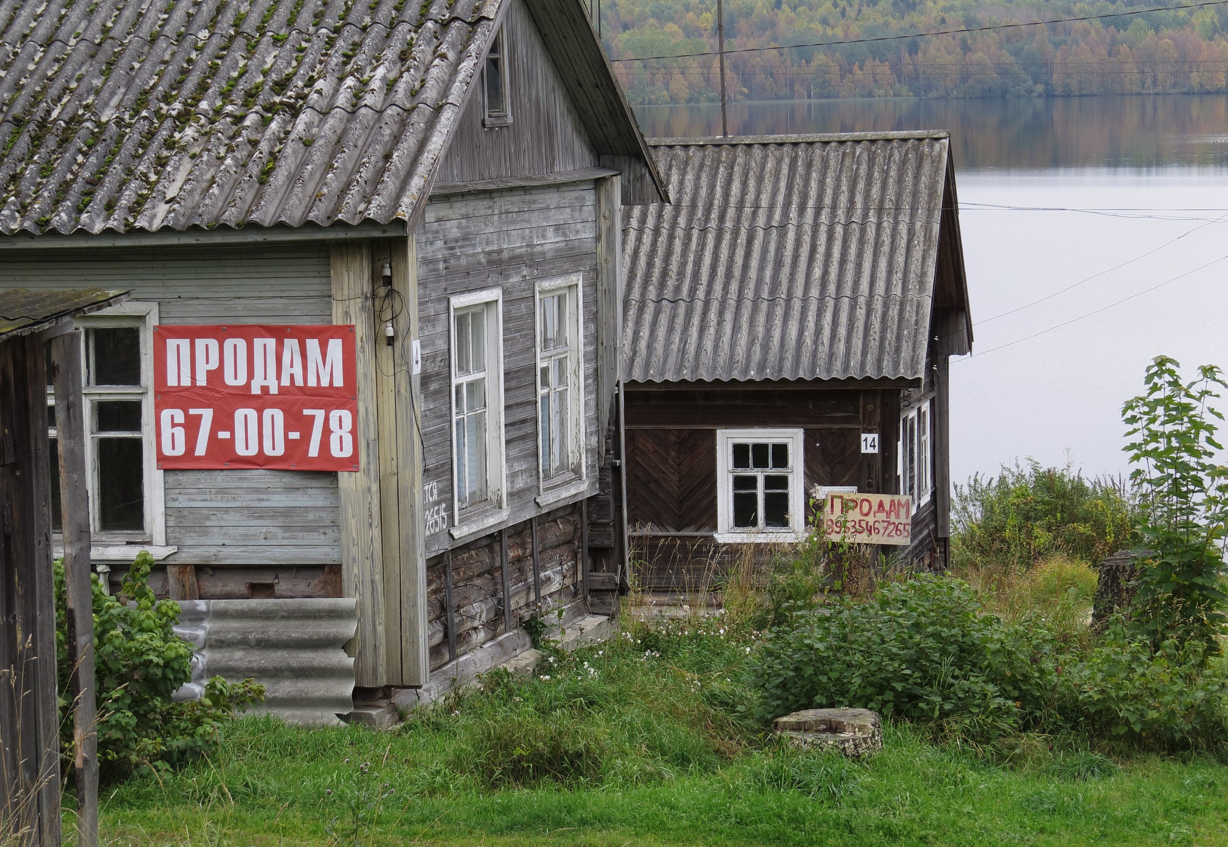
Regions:
[[[648, 136], [720, 134], [715, 106], [637, 113]], [[976, 336], [952, 365], [957, 482], [1025, 457], [1125, 473], [1147, 362], [1228, 368], [1226, 96], [738, 103], [729, 124], [950, 130]]]

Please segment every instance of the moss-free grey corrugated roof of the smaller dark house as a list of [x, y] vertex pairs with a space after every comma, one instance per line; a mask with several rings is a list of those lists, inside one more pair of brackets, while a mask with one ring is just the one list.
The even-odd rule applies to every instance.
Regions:
[[624, 378], [917, 379], [946, 133], [650, 141], [629, 210]]

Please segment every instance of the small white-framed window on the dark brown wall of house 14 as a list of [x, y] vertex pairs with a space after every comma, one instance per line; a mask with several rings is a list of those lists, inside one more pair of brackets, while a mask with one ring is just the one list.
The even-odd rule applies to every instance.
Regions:
[[721, 436], [722, 485], [727, 486], [726, 496], [718, 498], [721, 532], [801, 532], [802, 516], [795, 514], [802, 486], [801, 433], [725, 431]]

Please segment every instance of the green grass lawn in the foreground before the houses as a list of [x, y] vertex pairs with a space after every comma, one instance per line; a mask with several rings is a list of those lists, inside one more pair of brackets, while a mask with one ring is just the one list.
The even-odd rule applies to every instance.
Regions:
[[[989, 755], [887, 727], [866, 761], [744, 716], [745, 647], [683, 621], [492, 676], [402, 727], [249, 718], [216, 755], [104, 787], [115, 845], [1223, 845], [1228, 767], [1020, 737]], [[587, 663], [587, 665], [586, 665]], [[1051, 749], [1054, 748], [1054, 749]], [[363, 770], [363, 765], [367, 767]], [[387, 783], [387, 789], [384, 784]]]

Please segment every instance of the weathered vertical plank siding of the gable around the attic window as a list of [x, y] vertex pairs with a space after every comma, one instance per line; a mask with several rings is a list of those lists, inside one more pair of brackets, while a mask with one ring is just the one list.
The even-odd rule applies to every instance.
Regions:
[[457, 120], [437, 183], [578, 171], [599, 163], [542, 33], [523, 0], [503, 18], [511, 123], [485, 126], [485, 92], [474, 86]]

